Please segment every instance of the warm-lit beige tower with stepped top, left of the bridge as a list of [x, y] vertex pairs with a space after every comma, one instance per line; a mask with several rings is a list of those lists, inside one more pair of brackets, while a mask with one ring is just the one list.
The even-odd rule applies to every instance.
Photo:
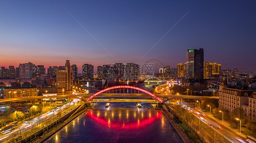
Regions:
[[66, 60], [65, 69], [56, 70], [57, 92], [72, 92], [73, 73], [69, 60]]

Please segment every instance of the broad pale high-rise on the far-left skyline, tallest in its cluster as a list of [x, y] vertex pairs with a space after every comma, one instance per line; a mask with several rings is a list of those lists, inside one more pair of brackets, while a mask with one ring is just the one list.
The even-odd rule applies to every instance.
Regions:
[[23, 63], [19, 65], [20, 78], [31, 78], [33, 72], [35, 72], [35, 65], [31, 62]]

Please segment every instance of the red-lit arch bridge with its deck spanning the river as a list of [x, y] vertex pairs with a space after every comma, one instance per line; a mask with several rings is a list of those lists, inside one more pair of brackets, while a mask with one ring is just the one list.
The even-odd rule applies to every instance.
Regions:
[[[120, 91], [123, 89], [134, 89], [134, 92], [135, 91], [141, 91], [141, 92], [144, 92], [150, 96], [152, 96], [153, 100], [146, 100], [146, 99], [94, 99], [94, 97], [96, 97], [97, 95], [101, 94], [101, 93], [104, 93], [104, 92], [109, 92], [111, 90], [117, 90], [119, 89]], [[123, 97], [126, 97], [125, 95], [123, 95]], [[175, 98], [176, 99], [176, 98]], [[158, 96], [152, 94], [151, 92], [148, 92], [144, 89], [141, 89], [141, 88], [138, 88], [138, 87], [135, 87], [135, 86], [113, 86], [113, 87], [109, 87], [109, 88], [106, 88], [102, 91], [99, 91], [97, 93], [95, 93], [94, 95], [90, 96], [89, 98], [87, 98], [86, 100], [87, 102], [92, 102], [92, 103], [98, 103], [98, 102], [140, 102], [140, 103], [164, 103], [166, 102], [167, 100], [162, 100], [161, 98], [159, 98]]]

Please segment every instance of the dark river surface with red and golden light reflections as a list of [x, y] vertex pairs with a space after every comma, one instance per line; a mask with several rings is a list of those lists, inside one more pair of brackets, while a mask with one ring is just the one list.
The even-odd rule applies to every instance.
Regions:
[[98, 104], [81, 114], [46, 143], [181, 143], [164, 113], [149, 104]]

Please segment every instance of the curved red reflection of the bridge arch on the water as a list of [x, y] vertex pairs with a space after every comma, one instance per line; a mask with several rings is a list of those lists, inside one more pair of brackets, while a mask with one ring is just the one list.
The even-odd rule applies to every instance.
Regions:
[[87, 116], [94, 119], [97, 123], [101, 124], [102, 126], [105, 126], [107, 128], [113, 128], [113, 129], [138, 129], [138, 128], [144, 128], [145, 126], [151, 124], [154, 122], [154, 120], [159, 119], [162, 115], [162, 112], [158, 112], [156, 115], [152, 115], [149, 118], [144, 119], [138, 119], [136, 122], [124, 122], [123, 124], [120, 124], [115, 121], [110, 121], [108, 119], [97, 117], [96, 115], [92, 114], [91, 112], [87, 112]]

